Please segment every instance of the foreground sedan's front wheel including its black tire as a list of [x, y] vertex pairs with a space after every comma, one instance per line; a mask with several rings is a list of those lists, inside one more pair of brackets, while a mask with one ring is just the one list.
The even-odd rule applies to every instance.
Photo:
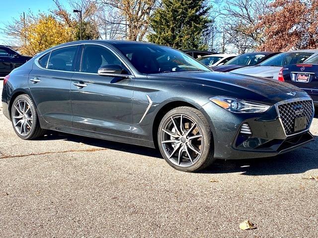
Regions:
[[[184, 121], [187, 120], [188, 122], [184, 123]], [[188, 128], [186, 128], [187, 124]], [[193, 127], [193, 131], [190, 132], [192, 125], [195, 127]], [[190, 126], [191, 128], [189, 128]], [[178, 129], [175, 127], [178, 127]], [[172, 132], [172, 130], [168, 128], [172, 128], [175, 134], [171, 135], [170, 132]], [[163, 129], [168, 133], [163, 131]], [[182, 134], [182, 136], [176, 138], [178, 136], [177, 134]], [[190, 138], [193, 137], [198, 137], [195, 138], [197, 139], [195, 143], [199, 145], [198, 147], [192, 144], [195, 139], [191, 139], [190, 141]], [[173, 140], [173, 142], [170, 143], [170, 140]], [[159, 124], [158, 145], [165, 161], [179, 171], [199, 171], [210, 166], [215, 161], [214, 144], [209, 123], [199, 110], [191, 107], [178, 107], [164, 115]], [[180, 149], [175, 151], [178, 145]], [[195, 150], [192, 150], [192, 148]], [[180, 152], [181, 149], [182, 151]], [[173, 151], [175, 151], [175, 153], [169, 159], [169, 155], [171, 156]], [[178, 156], [176, 156], [176, 154], [178, 154]]]

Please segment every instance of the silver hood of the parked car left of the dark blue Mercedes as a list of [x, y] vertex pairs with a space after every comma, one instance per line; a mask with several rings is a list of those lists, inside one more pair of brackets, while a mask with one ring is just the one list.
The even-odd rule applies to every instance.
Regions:
[[232, 70], [232, 73], [239, 73], [250, 76], [266, 77], [278, 79], [278, 73], [282, 67], [280, 66], [250, 66]]

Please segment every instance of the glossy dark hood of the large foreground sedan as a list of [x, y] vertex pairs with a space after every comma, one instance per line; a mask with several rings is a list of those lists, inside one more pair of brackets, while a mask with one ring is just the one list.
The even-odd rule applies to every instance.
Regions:
[[308, 96], [303, 90], [289, 83], [235, 73], [169, 72], [150, 74], [149, 77], [162, 78], [168, 81], [170, 81], [168, 78], [171, 77], [174, 82], [181, 83], [181, 86], [185, 84], [208, 86], [214, 88], [214, 94], [252, 101], [266, 100], [270, 103], [282, 101], [291, 98], [287, 95], [290, 92], [296, 92], [296, 97]]

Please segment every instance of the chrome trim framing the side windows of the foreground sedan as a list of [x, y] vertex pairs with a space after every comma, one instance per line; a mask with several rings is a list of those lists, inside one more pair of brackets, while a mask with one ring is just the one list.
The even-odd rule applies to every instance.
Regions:
[[[38, 66], [39, 68], [41, 69], [45, 69], [45, 70], [50, 70], [50, 71], [57, 71], [57, 72], [67, 72], [67, 73], [85, 73], [85, 74], [97, 74], [98, 73], [86, 73], [86, 72], [80, 72], [80, 71], [65, 71], [65, 70], [57, 70], [57, 69], [49, 69], [47, 68], [48, 67], [48, 64], [49, 64], [49, 61], [50, 61], [50, 58], [51, 58], [51, 54], [52, 54], [52, 51], [55, 51], [55, 50], [59, 50], [59, 49], [62, 49], [62, 48], [66, 48], [66, 47], [72, 47], [72, 46], [80, 46], [80, 45], [97, 45], [97, 46], [102, 46], [102, 47], [105, 47], [107, 50], [109, 50], [111, 53], [113, 53], [126, 67], [127, 69], [129, 70], [131, 76], [135, 76], [135, 74], [133, 73], [133, 70], [131, 70], [131, 68], [127, 65], [127, 63], [121, 59], [121, 57], [113, 50], [111, 49], [110, 47], [106, 46], [106, 45], [103, 45], [103, 44], [100, 44], [100, 43], [77, 43], [77, 44], [71, 44], [71, 45], [67, 45], [67, 46], [61, 46], [61, 47], [58, 47], [58, 48], [55, 48], [55, 49], [52, 49], [50, 51], [50, 56], [49, 56], [49, 59], [48, 59], [48, 62], [47, 62], [47, 65], [46, 65], [46, 68], [42, 67], [40, 64], [39, 64], [39, 59], [42, 58], [42, 57], [39, 57], [37, 59], [34, 60], [34, 63], [36, 66]], [[49, 52], [47, 52], [48, 54]], [[44, 55], [43, 55], [44, 56]], [[82, 57], [82, 53], [81, 53], [81, 57]], [[80, 63], [81, 63], [82, 59], [80, 59]]]

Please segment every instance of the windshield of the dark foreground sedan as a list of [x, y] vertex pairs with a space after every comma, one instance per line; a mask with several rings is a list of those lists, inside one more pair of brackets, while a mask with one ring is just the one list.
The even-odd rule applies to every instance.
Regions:
[[212, 71], [204, 64], [170, 47], [134, 43], [114, 46], [141, 73]]

